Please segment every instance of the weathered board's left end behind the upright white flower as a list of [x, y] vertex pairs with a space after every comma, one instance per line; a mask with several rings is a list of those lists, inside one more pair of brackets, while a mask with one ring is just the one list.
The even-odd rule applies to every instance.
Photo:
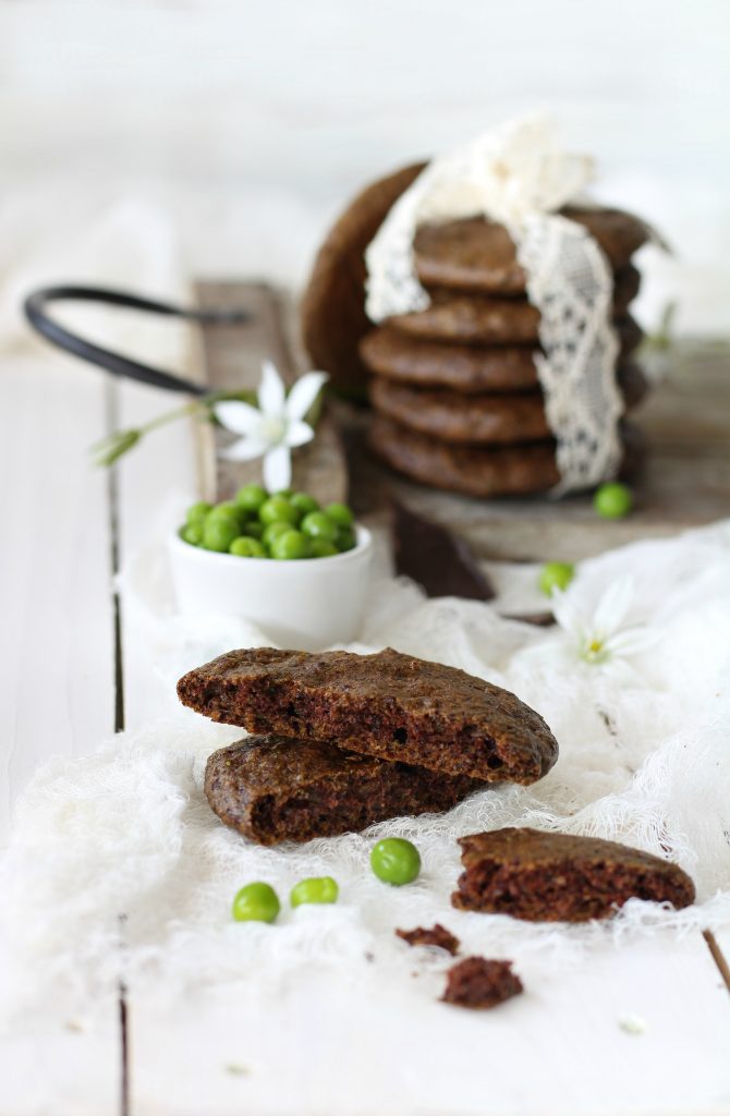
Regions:
[[[205, 309], [236, 307], [250, 311], [243, 325], [210, 326], [202, 330], [204, 381], [212, 388], [253, 388], [261, 379], [261, 362], [273, 360], [286, 383], [307, 371], [288, 296], [257, 282], [201, 282], [198, 301]], [[223, 430], [201, 427], [204, 489], [209, 497], [229, 499], [241, 484], [261, 481], [261, 462], [230, 462], [217, 451], [232, 439]], [[292, 454], [292, 485], [310, 492], [320, 503], [343, 500], [347, 471], [337, 426], [328, 414], [317, 424], [315, 441]]]

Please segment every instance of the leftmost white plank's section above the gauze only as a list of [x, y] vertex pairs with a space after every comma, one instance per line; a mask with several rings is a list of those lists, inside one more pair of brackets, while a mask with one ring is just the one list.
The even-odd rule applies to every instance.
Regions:
[[51, 753], [113, 731], [107, 478], [87, 448], [106, 389], [63, 357], [0, 365], [0, 844], [10, 802]]

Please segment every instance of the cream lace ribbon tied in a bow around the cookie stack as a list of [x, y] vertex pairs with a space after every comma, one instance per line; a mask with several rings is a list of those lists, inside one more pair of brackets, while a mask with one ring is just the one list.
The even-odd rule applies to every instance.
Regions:
[[380, 323], [430, 305], [415, 271], [419, 224], [486, 217], [506, 225], [540, 311], [537, 371], [557, 441], [555, 494], [607, 480], [621, 462], [613, 273], [593, 237], [555, 212], [590, 176], [592, 161], [560, 151], [547, 118], [508, 124], [430, 163], [365, 253], [365, 308]]

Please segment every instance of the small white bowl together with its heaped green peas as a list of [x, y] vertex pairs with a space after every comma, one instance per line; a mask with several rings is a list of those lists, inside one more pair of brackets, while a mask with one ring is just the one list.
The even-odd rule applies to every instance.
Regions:
[[185, 615], [241, 616], [300, 651], [358, 635], [372, 539], [346, 503], [246, 484], [232, 500], [191, 504], [169, 552]]

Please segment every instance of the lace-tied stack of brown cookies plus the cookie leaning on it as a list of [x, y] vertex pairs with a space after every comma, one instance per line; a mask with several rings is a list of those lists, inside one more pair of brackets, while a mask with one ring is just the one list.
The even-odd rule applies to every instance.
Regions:
[[[503, 225], [482, 218], [422, 225], [414, 252], [431, 306], [375, 328], [365, 317], [364, 251], [419, 171], [375, 183], [332, 231], [305, 297], [305, 341], [336, 384], [367, 377], [369, 442], [392, 468], [471, 496], [545, 491], [560, 478], [535, 359], [540, 316]], [[647, 227], [613, 209], [563, 212], [587, 229], [613, 270], [615, 375], [631, 411], [646, 392], [633, 359], [642, 331], [628, 310], [640, 286], [632, 258]], [[641, 443], [626, 422], [622, 436], [628, 472]]]

